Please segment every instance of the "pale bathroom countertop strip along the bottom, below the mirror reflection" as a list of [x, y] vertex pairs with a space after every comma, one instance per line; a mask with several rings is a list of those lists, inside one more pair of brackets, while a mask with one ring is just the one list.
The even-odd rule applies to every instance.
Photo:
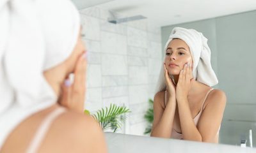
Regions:
[[105, 133], [109, 153], [255, 153], [256, 149], [249, 147], [241, 148], [234, 145], [215, 143], [191, 142], [167, 138], [152, 138], [149, 136], [123, 135], [118, 133]]

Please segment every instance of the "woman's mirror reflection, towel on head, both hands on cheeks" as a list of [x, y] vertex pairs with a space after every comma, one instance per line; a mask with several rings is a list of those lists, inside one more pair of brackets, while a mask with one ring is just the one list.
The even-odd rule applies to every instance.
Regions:
[[175, 27], [164, 54], [151, 136], [218, 143], [226, 96], [211, 88], [218, 80], [207, 39]]

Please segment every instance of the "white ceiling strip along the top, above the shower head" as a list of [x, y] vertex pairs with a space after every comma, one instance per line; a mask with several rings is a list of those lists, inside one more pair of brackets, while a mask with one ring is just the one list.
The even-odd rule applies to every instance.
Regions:
[[98, 6], [127, 17], [143, 15], [162, 27], [256, 10], [256, 0], [115, 0]]

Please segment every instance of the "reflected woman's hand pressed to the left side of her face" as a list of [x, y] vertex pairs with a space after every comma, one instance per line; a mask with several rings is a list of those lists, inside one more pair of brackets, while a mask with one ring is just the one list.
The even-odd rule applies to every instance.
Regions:
[[168, 73], [168, 70], [166, 69], [165, 63], [164, 63], [164, 78], [165, 78], [165, 84], [167, 87], [167, 91], [170, 94], [170, 98], [175, 98], [176, 86], [175, 86], [172, 78], [169, 77], [169, 73]]

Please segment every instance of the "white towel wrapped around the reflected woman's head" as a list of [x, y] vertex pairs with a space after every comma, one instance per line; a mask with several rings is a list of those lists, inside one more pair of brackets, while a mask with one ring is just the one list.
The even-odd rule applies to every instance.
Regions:
[[[218, 79], [211, 66], [211, 50], [207, 45], [207, 38], [194, 29], [175, 27], [166, 42], [164, 53], [169, 43], [175, 38], [185, 41], [189, 47], [193, 59], [193, 78], [210, 87], [218, 84]], [[157, 83], [157, 92], [163, 91], [165, 88], [164, 75], [162, 73], [163, 66]]]

